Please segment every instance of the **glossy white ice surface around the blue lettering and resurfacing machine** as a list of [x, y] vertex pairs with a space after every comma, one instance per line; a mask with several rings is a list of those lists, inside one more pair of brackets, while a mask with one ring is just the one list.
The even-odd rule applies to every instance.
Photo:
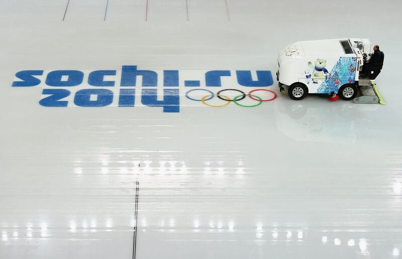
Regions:
[[[402, 257], [401, 8], [0, 0], [0, 258]], [[343, 37], [384, 51], [376, 82], [386, 105], [279, 93], [280, 49]], [[135, 106], [119, 107], [123, 65], [156, 71], [159, 101], [162, 70], [179, 70], [179, 111], [141, 104], [141, 77], [128, 88]], [[22, 70], [43, 70], [41, 84], [12, 87]], [[45, 88], [57, 89], [45, 84], [54, 70], [85, 71], [82, 85], [62, 88], [72, 93], [67, 107], [39, 104]], [[113, 103], [74, 105], [77, 90], [95, 88], [86, 83], [93, 70], [117, 70]], [[231, 77], [206, 88], [209, 70], [251, 70], [253, 79], [270, 70], [273, 84], [259, 89], [278, 96], [252, 108], [191, 101], [196, 87], [184, 80], [214, 94], [256, 89]]]

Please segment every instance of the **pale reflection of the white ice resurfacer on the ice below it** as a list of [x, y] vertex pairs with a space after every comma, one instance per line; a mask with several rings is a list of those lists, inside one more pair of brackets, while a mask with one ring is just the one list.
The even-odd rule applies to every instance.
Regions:
[[353, 143], [357, 133], [368, 132], [370, 117], [378, 107], [323, 100], [275, 102], [275, 124], [297, 141]]

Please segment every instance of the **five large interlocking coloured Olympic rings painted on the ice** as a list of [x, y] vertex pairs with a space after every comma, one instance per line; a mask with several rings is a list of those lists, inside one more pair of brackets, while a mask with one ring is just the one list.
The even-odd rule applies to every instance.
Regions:
[[[188, 95], [188, 94], [190, 94], [191, 92], [194, 92], [194, 91], [204, 91], [204, 92], [207, 92], [208, 94], [205, 95], [201, 99], [194, 99], [194, 98], [191, 98]], [[222, 95], [222, 93], [225, 92], [225, 91], [236, 91], [236, 92], [239, 92], [240, 95], [234, 97], [233, 99], [230, 99], [229, 97], [227, 97], [225, 95]], [[262, 99], [261, 97], [259, 97], [257, 95], [254, 95], [255, 92], [258, 92], [258, 91], [269, 92], [269, 93], [271, 93], [273, 95], [273, 97], [270, 98], [270, 99]], [[242, 107], [256, 107], [256, 106], [261, 105], [263, 102], [269, 102], [269, 101], [275, 100], [278, 97], [275, 92], [273, 92], [271, 90], [268, 90], [268, 89], [255, 89], [255, 90], [250, 91], [247, 95], [246, 95], [246, 93], [244, 93], [243, 91], [238, 90], [238, 89], [223, 89], [223, 90], [219, 91], [216, 94], [216, 96], [219, 99], [225, 101], [226, 103], [220, 104], [220, 105], [213, 105], [213, 104], [207, 103], [207, 101], [209, 101], [209, 100], [211, 100], [211, 99], [213, 99], [215, 97], [215, 94], [212, 91], [207, 90], [207, 89], [192, 89], [192, 90], [187, 91], [187, 93], [185, 93], [185, 97], [187, 99], [189, 99], [191, 101], [202, 102], [204, 105], [210, 106], [210, 107], [224, 107], [224, 106], [229, 105], [231, 102], [235, 103], [238, 106], [242, 106]], [[244, 105], [244, 104], [239, 103], [239, 101], [245, 99], [246, 97], [249, 97], [251, 100], [257, 101], [258, 103], [254, 104], [254, 105]]]

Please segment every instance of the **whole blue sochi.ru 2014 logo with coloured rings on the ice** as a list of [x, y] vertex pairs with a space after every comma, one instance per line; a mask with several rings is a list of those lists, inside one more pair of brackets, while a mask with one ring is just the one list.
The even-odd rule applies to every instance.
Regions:
[[[258, 106], [276, 98], [274, 92], [261, 89], [272, 84], [269, 70], [141, 70], [135, 65], [124, 65], [121, 70], [23, 70], [16, 73], [12, 87], [42, 88], [39, 104], [45, 107], [148, 106], [177, 113], [180, 97], [184, 98], [181, 102], [195, 101], [211, 107], [232, 102]], [[231, 99], [224, 95], [227, 90], [239, 95]], [[205, 95], [200, 98], [191, 96], [203, 91]], [[273, 98], [263, 100], [255, 91], [272, 92]], [[209, 104], [208, 100], [215, 96], [225, 103]], [[242, 105], [240, 102], [246, 96], [257, 104]]]

